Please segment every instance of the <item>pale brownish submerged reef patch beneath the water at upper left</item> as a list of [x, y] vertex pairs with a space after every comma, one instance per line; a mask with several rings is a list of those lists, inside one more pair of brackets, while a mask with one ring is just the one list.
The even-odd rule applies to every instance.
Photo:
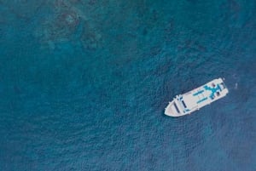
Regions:
[[94, 20], [83, 10], [89, 4], [79, 0], [55, 0], [50, 4], [54, 13], [33, 33], [43, 46], [55, 49], [56, 43], [77, 40], [85, 49], [99, 48], [102, 35], [93, 26]]

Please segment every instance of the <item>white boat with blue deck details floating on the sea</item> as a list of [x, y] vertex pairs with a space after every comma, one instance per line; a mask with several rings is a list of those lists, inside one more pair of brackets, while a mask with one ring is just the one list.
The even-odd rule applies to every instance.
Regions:
[[222, 78], [214, 79], [209, 83], [195, 88], [188, 93], [177, 95], [167, 105], [165, 114], [170, 117], [181, 117], [199, 110], [213, 101], [223, 98], [229, 93]]

